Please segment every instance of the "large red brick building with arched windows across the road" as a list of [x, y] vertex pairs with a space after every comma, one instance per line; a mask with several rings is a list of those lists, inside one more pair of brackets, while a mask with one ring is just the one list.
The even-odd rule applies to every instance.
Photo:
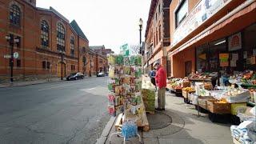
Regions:
[[84, 49], [89, 41], [78, 24], [69, 22], [57, 10], [36, 7], [36, 0], [0, 0], [0, 79], [10, 77], [9, 42], [6, 35], [14, 34], [19, 42], [14, 52], [14, 80], [65, 77], [74, 71], [85, 69]]

